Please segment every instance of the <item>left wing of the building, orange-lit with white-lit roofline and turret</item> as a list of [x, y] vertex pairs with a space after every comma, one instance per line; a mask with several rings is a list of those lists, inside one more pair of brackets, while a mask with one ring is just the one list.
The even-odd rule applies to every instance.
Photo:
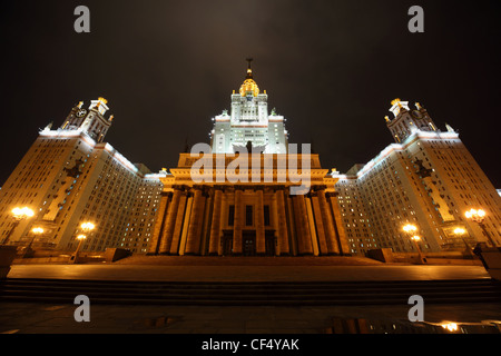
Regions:
[[[48, 126], [40, 131], [3, 185], [0, 239], [12, 227], [12, 208], [28, 206], [36, 215], [16, 228], [10, 237], [13, 244], [26, 244], [32, 238], [31, 228], [42, 227], [43, 234], [33, 246], [72, 250], [80, 224], [92, 221], [96, 229], [85, 240], [84, 251], [121, 246], [146, 251], [144, 245], [150, 234], [147, 225], [153, 224], [161, 190], [158, 175], [130, 164], [104, 142], [112, 122], [112, 116], [106, 117], [105, 99], [92, 100], [88, 109], [82, 106], [79, 102], [72, 108], [60, 128]], [[150, 191], [146, 196], [141, 189]], [[144, 210], [140, 216], [139, 209]], [[146, 226], [139, 227], [141, 224]], [[144, 233], [132, 236], [134, 228]]]

